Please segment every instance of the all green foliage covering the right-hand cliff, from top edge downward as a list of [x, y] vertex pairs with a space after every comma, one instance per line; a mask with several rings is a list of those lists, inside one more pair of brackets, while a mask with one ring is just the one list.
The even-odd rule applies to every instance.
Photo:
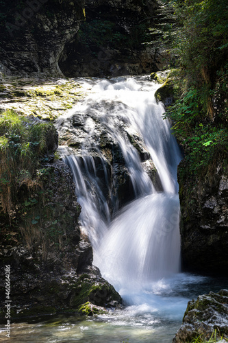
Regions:
[[227, 158], [227, 3], [219, 0], [171, 1], [179, 21], [175, 49], [177, 99], [165, 117], [183, 146], [188, 174], [203, 176]]

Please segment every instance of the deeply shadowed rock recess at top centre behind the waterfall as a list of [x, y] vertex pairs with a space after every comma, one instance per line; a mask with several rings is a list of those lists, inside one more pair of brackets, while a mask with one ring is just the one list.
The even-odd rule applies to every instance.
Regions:
[[64, 74], [103, 77], [158, 70], [153, 47], [142, 44], [156, 8], [154, 0], [86, 1], [86, 22], [75, 47], [66, 47], [61, 56]]

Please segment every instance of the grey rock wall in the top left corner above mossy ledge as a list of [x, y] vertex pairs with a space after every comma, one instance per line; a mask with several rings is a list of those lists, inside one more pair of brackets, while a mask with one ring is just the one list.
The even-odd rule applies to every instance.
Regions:
[[5, 11], [8, 21], [1, 35], [1, 69], [25, 76], [34, 72], [62, 75], [58, 61], [84, 20], [84, 1], [24, 1], [18, 8], [13, 0]]

